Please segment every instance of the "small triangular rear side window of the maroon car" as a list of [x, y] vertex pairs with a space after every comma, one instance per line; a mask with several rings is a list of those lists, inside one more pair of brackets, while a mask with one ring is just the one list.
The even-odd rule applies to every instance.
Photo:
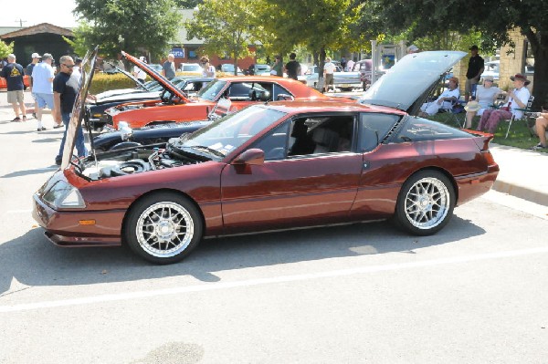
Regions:
[[360, 151], [373, 151], [401, 116], [364, 112], [360, 115]]

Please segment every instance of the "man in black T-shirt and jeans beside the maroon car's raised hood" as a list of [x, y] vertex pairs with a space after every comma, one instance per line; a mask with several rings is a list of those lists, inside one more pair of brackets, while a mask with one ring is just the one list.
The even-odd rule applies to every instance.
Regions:
[[[76, 95], [79, 90], [79, 76], [73, 74], [74, 60], [70, 56], [63, 56], [59, 59], [59, 72], [53, 80], [53, 99], [55, 101], [55, 113], [54, 120], [63, 122], [65, 124], [65, 132], [63, 133], [63, 140], [59, 147], [57, 157], [55, 157], [55, 163], [61, 164], [63, 160], [63, 150], [65, 149], [65, 140], [67, 139], [68, 121], [74, 107], [74, 101], [76, 101]], [[79, 157], [85, 157], [88, 155], [86, 147], [84, 145], [84, 133], [82, 131], [81, 124], [78, 126], [76, 132], [76, 150]]]

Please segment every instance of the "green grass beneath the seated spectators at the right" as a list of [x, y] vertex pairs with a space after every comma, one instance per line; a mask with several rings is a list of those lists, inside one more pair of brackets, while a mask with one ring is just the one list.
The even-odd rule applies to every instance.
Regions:
[[[460, 125], [462, 125], [462, 120], [465, 118], [465, 113], [460, 113], [457, 115], [458, 120], [461, 120]], [[447, 124], [453, 127], [457, 127], [457, 122], [455, 122], [450, 115], [448, 114], [436, 114], [434, 116], [431, 116], [431, 120], [436, 120], [438, 122], [441, 122], [443, 124]], [[474, 120], [472, 120], [472, 130], [476, 130], [476, 127], [479, 123], [479, 117], [475, 117]], [[497, 126], [497, 130], [495, 130], [495, 137], [493, 140], [491, 140], [494, 143], [501, 144], [501, 145], [508, 145], [510, 147], [520, 148], [524, 150], [530, 150], [533, 145], [538, 144], [539, 138], [532, 134], [532, 131], [529, 129], [529, 125], [534, 125], [533, 119], [528, 120], [514, 120], [511, 123], [511, 129], [508, 133], [508, 138], [504, 138], [506, 136], [506, 130], [508, 130], [508, 124], [509, 121], [501, 120], [499, 122], [499, 125]], [[458, 128], [460, 128], [460, 125]], [[542, 152], [548, 153], [548, 150], [540, 150]]]

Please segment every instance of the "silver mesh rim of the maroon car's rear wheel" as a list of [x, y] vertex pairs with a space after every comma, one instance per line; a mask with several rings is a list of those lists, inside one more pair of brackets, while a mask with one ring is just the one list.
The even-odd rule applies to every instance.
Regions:
[[451, 195], [445, 183], [434, 177], [422, 178], [406, 192], [407, 221], [417, 229], [429, 230], [441, 224], [448, 215]]

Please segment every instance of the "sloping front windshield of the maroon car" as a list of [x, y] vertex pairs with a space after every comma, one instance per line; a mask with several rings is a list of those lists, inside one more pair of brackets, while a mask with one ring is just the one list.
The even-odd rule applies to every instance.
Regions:
[[267, 109], [263, 105], [253, 105], [195, 131], [184, 140], [182, 147], [225, 157], [285, 115], [282, 111]]

